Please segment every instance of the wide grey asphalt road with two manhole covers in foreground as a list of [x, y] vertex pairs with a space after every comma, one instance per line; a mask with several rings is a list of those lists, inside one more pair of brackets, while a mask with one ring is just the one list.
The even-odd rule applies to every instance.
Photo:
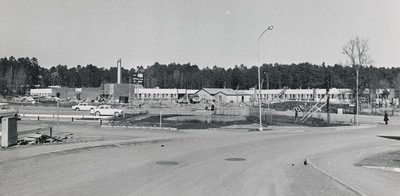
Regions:
[[[0, 195], [357, 195], [304, 160], [397, 145], [379, 136], [400, 135], [399, 121], [391, 119], [385, 126], [379, 119], [357, 128], [271, 127], [264, 132], [91, 128], [143, 140], [2, 149]], [[380, 180], [369, 182], [363, 175], [357, 190], [398, 193], [386, 187], [392, 178], [378, 173]], [[368, 183], [375, 190], [363, 188]]]

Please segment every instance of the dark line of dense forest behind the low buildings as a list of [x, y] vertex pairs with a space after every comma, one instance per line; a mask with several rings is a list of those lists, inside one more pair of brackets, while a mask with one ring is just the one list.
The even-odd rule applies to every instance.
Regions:
[[[359, 66], [359, 88], [395, 88], [400, 86], [400, 68]], [[354, 66], [298, 64], [263, 64], [260, 68], [263, 89], [299, 88], [355, 88]], [[142, 73], [146, 88], [232, 88], [257, 87], [258, 68], [235, 65], [200, 69], [190, 63], [160, 64], [121, 69], [121, 82], [132, 82], [134, 73]], [[25, 94], [31, 88], [48, 86], [99, 87], [117, 82], [117, 68], [89, 64], [68, 68], [66, 65], [41, 67], [36, 58], [9, 57], [0, 59], [0, 92], [3, 95]]]

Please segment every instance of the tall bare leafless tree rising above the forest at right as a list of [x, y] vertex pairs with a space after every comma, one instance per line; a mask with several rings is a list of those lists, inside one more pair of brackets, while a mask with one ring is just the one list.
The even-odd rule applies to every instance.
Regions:
[[360, 37], [351, 39], [345, 46], [343, 46], [343, 54], [348, 58], [348, 63], [353, 66], [356, 70], [356, 116], [355, 122], [358, 125], [358, 109], [359, 109], [359, 98], [358, 98], [358, 75], [361, 66], [372, 64], [370, 56], [367, 54], [369, 50], [368, 40]]

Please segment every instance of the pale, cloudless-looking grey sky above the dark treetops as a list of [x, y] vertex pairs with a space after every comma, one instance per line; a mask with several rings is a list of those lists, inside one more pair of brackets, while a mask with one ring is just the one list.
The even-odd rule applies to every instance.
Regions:
[[42, 67], [122, 58], [224, 68], [260, 63], [346, 62], [342, 47], [369, 40], [376, 67], [400, 67], [398, 0], [0, 0], [0, 57]]

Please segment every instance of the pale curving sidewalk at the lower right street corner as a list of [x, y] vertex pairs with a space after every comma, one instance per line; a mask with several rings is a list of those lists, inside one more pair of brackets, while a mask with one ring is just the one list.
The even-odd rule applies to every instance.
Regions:
[[399, 172], [354, 166], [354, 164], [373, 154], [396, 150], [400, 150], [400, 145], [314, 157], [309, 159], [309, 163], [361, 195], [398, 196], [400, 193]]

